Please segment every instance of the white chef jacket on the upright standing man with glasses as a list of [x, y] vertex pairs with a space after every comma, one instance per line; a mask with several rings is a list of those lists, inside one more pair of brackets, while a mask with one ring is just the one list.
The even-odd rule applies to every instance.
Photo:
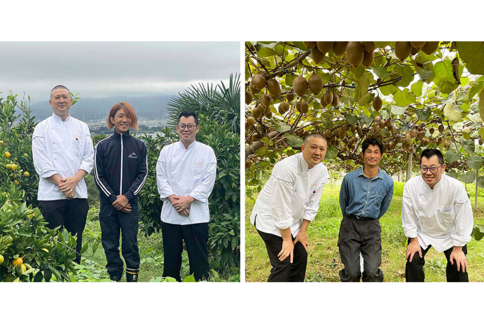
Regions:
[[[208, 197], [212, 193], [217, 171], [217, 158], [212, 147], [194, 141], [185, 148], [175, 142], [164, 146], [156, 163], [156, 183], [163, 201], [161, 221], [177, 225], [210, 221]], [[191, 196], [190, 215], [178, 214], [167, 198], [170, 195]]]

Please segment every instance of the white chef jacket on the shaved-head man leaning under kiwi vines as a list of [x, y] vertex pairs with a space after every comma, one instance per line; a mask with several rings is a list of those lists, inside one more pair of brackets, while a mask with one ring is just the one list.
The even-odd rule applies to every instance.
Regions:
[[[302, 153], [274, 165], [272, 175], [257, 196], [251, 223], [260, 231], [281, 237], [279, 229], [297, 235], [302, 220], [313, 221], [318, 213], [328, 169], [323, 164], [308, 169]], [[256, 218], [257, 216], [257, 218]]]

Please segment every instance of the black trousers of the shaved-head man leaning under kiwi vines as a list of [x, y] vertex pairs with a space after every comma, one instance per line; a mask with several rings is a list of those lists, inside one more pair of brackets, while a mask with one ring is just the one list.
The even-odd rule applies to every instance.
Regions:
[[[290, 257], [283, 261], [279, 260], [277, 254], [282, 249], [282, 238], [271, 233], [257, 230], [262, 240], [266, 244], [269, 260], [272, 269], [269, 274], [268, 282], [304, 282], [306, 276], [306, 266], [308, 264], [308, 252], [299, 242], [294, 245], [293, 261]], [[294, 241], [294, 237], [292, 237]]]

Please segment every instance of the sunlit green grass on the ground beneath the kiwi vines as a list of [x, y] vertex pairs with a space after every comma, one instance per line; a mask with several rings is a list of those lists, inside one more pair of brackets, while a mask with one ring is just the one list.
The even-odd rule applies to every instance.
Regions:
[[[382, 265], [385, 282], [405, 281], [405, 248], [407, 238], [401, 223], [402, 182], [395, 182], [393, 200], [388, 211], [380, 219], [382, 226]], [[319, 211], [315, 221], [308, 228], [307, 282], [339, 282], [339, 271], [343, 268], [336, 245], [342, 219], [339, 208], [339, 185], [328, 183], [323, 190]], [[467, 185], [471, 204], [474, 205], [474, 185]], [[271, 270], [266, 247], [249, 218], [254, 200], [246, 196], [246, 282], [265, 282]], [[484, 225], [484, 190], [477, 194], [477, 211], [474, 210], [474, 224]], [[431, 248], [427, 253], [425, 276], [427, 282], [445, 282], [447, 260], [444, 253]], [[469, 281], [484, 281], [484, 239], [474, 238], [467, 244]]]

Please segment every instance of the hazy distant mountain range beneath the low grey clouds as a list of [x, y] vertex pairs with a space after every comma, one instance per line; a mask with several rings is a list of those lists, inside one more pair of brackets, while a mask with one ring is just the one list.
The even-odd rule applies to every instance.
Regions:
[[[128, 102], [133, 105], [138, 118], [163, 119], [167, 116], [167, 102], [172, 95], [161, 96], [112, 96], [106, 98], [79, 99], [71, 106], [70, 114], [82, 121], [94, 121], [106, 118], [109, 109], [117, 102]], [[37, 122], [52, 115], [49, 101], [30, 105], [32, 115]]]

